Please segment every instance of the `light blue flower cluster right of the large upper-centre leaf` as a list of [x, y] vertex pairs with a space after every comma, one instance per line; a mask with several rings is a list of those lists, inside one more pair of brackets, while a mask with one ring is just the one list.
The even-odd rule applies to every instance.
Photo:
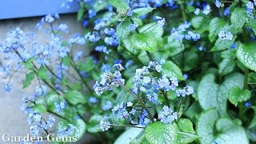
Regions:
[[191, 30], [187, 30], [188, 28], [190, 28], [190, 26], [190, 22], [182, 23], [180, 26], [178, 26], [177, 29], [173, 28], [172, 30], [170, 30], [170, 34], [177, 41], [182, 41], [183, 38], [185, 38], [188, 41], [190, 41], [191, 39], [193, 41], [198, 41], [198, 39], [201, 38], [200, 34], [195, 34]]

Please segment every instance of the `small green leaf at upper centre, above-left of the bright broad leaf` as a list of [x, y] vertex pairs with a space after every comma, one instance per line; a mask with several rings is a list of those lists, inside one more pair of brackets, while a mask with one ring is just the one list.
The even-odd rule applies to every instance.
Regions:
[[116, 34], [118, 36], [119, 41], [121, 41], [122, 39], [128, 38], [130, 34], [130, 29], [129, 29], [130, 24], [131, 22], [128, 20], [118, 23]]

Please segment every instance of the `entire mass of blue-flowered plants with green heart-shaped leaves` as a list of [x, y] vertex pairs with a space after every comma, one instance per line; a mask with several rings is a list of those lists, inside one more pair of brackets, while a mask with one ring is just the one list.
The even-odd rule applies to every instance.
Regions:
[[103, 143], [256, 142], [255, 1], [79, 2], [84, 33], [66, 38], [68, 26], [47, 15], [37, 25], [49, 26], [45, 45], [16, 29], [0, 46], [16, 62], [2, 63], [5, 90], [17, 73], [26, 74], [24, 88], [34, 86], [22, 106], [31, 134], [90, 133]]

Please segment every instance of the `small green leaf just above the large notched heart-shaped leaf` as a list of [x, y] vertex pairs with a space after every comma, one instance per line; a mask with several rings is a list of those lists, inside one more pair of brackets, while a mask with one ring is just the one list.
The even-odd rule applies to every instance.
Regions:
[[218, 73], [221, 75], [230, 74], [235, 67], [236, 62], [229, 58], [224, 58], [222, 62], [218, 64]]

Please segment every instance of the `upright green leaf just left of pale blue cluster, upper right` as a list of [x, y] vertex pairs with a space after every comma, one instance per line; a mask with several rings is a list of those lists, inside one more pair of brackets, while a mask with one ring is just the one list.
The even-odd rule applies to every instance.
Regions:
[[218, 36], [218, 32], [224, 27], [227, 26], [226, 21], [221, 18], [213, 18], [210, 21], [209, 26], [209, 39], [210, 42], [214, 42], [215, 38]]

